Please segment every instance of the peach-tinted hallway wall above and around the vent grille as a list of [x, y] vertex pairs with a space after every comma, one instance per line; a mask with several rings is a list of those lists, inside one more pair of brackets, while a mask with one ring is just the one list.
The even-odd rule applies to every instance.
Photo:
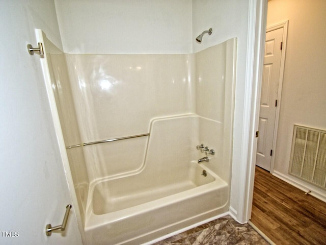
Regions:
[[324, 0], [268, 2], [267, 27], [289, 20], [274, 171], [303, 185], [288, 174], [293, 125], [326, 130], [325, 9]]

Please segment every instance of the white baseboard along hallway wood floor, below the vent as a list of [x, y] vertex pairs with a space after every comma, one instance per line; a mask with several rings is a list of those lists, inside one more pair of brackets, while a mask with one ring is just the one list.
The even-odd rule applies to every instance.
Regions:
[[273, 171], [273, 175], [281, 180], [284, 180], [290, 185], [293, 185], [296, 188], [301, 189], [304, 192], [308, 192], [310, 190], [311, 191], [309, 192], [310, 195], [326, 203], [326, 191], [322, 192], [318, 189], [318, 187], [305, 185], [305, 183], [302, 183], [300, 180], [297, 180], [295, 177], [284, 175], [276, 170]]

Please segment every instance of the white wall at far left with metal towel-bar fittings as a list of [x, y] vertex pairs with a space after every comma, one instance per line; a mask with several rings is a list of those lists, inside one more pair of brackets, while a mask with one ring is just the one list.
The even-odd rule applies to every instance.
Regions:
[[[37, 12], [35, 11], [37, 9]], [[40, 66], [26, 45], [42, 28], [61, 46], [52, 1], [0, 2], [1, 244], [81, 244], [74, 209], [66, 236], [45, 235], [71, 203]], [[13, 233], [14, 234], [14, 233]], [[17, 233], [16, 233], [17, 234]]]

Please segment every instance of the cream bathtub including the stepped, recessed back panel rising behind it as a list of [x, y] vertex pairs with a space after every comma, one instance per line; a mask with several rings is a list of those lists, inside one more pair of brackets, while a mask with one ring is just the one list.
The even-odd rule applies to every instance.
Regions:
[[219, 157], [197, 163], [205, 156], [196, 150], [199, 133], [192, 130], [200, 128], [200, 120], [197, 115], [153, 120], [139, 171], [91, 183], [89, 244], [142, 244], [228, 211], [228, 183], [207, 167]]

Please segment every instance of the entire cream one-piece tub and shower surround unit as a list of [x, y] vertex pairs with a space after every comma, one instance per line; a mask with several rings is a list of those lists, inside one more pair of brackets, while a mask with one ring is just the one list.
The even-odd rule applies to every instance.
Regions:
[[[150, 244], [228, 212], [236, 39], [196, 54], [83, 55], [43, 38], [88, 244]], [[201, 143], [215, 154], [198, 164]]]

